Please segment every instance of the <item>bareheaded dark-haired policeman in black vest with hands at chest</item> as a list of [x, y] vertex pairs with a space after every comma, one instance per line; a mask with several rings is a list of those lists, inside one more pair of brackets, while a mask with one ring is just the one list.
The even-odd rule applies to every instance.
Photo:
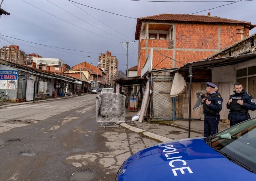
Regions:
[[241, 83], [234, 83], [234, 92], [227, 103], [227, 108], [230, 109], [228, 114], [230, 126], [250, 119], [249, 110], [256, 110], [252, 96], [244, 91]]

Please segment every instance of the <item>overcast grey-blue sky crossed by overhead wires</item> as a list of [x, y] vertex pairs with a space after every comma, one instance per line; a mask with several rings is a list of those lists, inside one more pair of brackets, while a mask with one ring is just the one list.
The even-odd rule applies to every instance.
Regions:
[[[4, 0], [1, 8], [11, 14], [1, 15], [0, 33], [4, 36], [0, 38], [0, 46], [18, 45], [26, 54], [36, 53], [46, 58], [59, 58], [71, 67], [80, 63], [81, 58], [85, 56], [90, 57], [83, 58], [82, 62], [97, 66], [100, 53], [106, 53], [108, 50], [119, 60], [119, 70], [125, 72], [126, 49], [120, 43], [135, 41], [137, 18], [162, 13], [191, 14], [203, 11], [196, 14], [207, 15], [211, 12], [211, 16], [256, 24], [256, 0], [236, 3], [227, 0], [226, 2], [72, 1], [76, 3], [68, 0]], [[218, 6], [221, 7], [212, 9]], [[256, 28], [250, 31], [250, 35], [255, 32]], [[129, 46], [131, 47], [128, 64], [132, 67], [137, 65], [138, 40]]]

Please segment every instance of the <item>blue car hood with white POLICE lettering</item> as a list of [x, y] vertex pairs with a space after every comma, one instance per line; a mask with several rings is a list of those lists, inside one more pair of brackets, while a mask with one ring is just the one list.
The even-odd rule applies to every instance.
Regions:
[[169, 141], [143, 149], [129, 157], [118, 173], [118, 181], [246, 179], [255, 180], [256, 175], [213, 150], [204, 138]]

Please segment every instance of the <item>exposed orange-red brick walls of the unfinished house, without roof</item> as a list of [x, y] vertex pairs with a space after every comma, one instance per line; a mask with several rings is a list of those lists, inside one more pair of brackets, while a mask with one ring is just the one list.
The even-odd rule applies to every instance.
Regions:
[[[152, 47], [154, 50], [170, 56], [173, 58], [173, 50], [175, 50], [175, 60], [186, 64], [188, 62], [194, 62], [203, 60], [212, 54], [224, 49], [237, 41], [241, 40], [241, 25], [220, 25], [220, 44], [219, 40], [219, 25], [208, 24], [177, 24], [176, 25], [176, 37], [174, 49], [163, 50], [168, 48], [168, 40], [148, 40], [147, 48]], [[249, 36], [249, 30], [244, 30], [244, 38]], [[220, 50], [218, 50], [220, 45]], [[139, 44], [140, 67], [138, 66], [138, 75], [141, 75], [141, 70], [146, 61], [146, 50], [141, 47], [146, 47], [146, 40], [142, 39]], [[159, 49], [158, 49], [159, 48]], [[177, 50], [177, 48], [197, 49], [193, 50]], [[198, 49], [202, 49], [199, 51]], [[207, 51], [216, 50], [216, 51]], [[153, 52], [153, 69], [172, 68], [172, 60], [166, 58], [164, 61], [164, 55]], [[162, 61], [162, 62], [161, 62]], [[158, 64], [159, 63], [159, 64]], [[158, 65], [157, 65], [158, 64]], [[138, 59], [139, 65], [139, 59]], [[175, 67], [180, 67], [182, 64], [175, 62]]]

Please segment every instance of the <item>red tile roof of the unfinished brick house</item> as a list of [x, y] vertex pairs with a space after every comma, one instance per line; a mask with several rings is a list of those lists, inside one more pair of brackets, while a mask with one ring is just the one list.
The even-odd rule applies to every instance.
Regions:
[[205, 15], [192, 15], [192, 14], [158, 14], [153, 16], [146, 16], [137, 19], [135, 40], [139, 39], [140, 28], [142, 21], [164, 21], [164, 22], [180, 22], [180, 23], [214, 23], [214, 24], [242, 24], [248, 26], [250, 29], [251, 23], [247, 21], [239, 21], [234, 19], [220, 18], [217, 16], [205, 16]]

